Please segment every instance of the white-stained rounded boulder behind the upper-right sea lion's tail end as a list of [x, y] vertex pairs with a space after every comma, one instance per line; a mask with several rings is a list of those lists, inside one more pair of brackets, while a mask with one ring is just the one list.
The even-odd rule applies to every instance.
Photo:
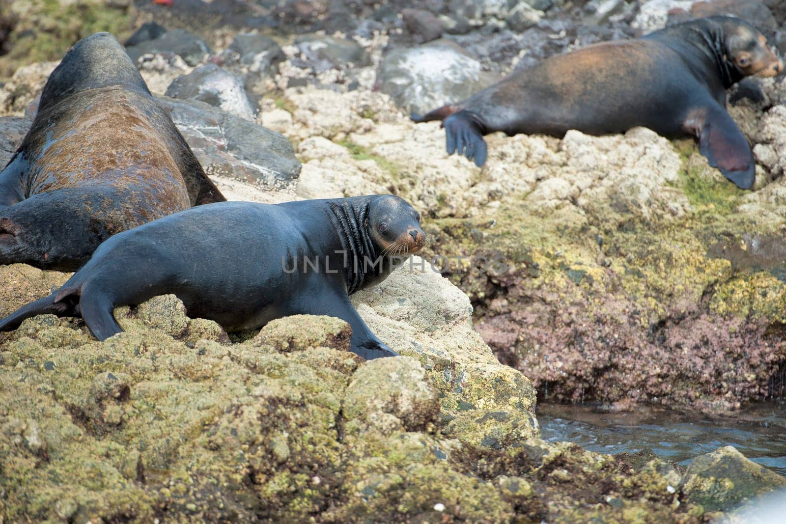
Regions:
[[406, 112], [424, 114], [464, 100], [498, 80], [453, 42], [436, 40], [411, 49], [394, 49], [380, 64], [377, 89]]

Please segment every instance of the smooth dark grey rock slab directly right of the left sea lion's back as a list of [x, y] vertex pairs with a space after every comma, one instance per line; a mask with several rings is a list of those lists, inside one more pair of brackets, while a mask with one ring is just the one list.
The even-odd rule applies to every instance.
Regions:
[[292, 144], [274, 131], [200, 101], [158, 97], [211, 177], [252, 187], [293, 187], [300, 173]]

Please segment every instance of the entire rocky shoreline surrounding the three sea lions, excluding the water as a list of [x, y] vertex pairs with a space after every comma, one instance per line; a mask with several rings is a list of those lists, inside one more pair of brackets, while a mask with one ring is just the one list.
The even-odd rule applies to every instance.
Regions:
[[[13, 435], [0, 440], [0, 522], [745, 522], [734, 508], [786, 486], [730, 447], [684, 470], [547, 443], [535, 416], [538, 398], [728, 413], [783, 396], [782, 77], [741, 86], [731, 108], [755, 145], [750, 192], [692, 141], [643, 128], [493, 135], [480, 169], [446, 156], [438, 123], [408, 117], [702, 9], [758, 13], [786, 48], [786, 13], [426, 3], [112, 8], [230, 200], [393, 192], [423, 214], [438, 263], [353, 297], [398, 359], [360, 361], [328, 317], [230, 337], [171, 296], [118, 310], [127, 333], [105, 343], [47, 316], [0, 334], [0, 429]], [[0, 86], [3, 165], [57, 64], [29, 62]], [[66, 278], [0, 267], [0, 315]]]

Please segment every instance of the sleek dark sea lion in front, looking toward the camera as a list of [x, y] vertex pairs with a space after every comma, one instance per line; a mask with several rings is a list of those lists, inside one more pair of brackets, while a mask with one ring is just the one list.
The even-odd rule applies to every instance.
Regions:
[[395, 351], [348, 295], [384, 280], [425, 243], [420, 215], [398, 196], [193, 207], [112, 236], [62, 288], [0, 321], [0, 331], [53, 313], [81, 316], [104, 340], [122, 331], [117, 306], [174, 294], [189, 316], [227, 331], [299, 313], [339, 317], [352, 327], [354, 353], [390, 357]]

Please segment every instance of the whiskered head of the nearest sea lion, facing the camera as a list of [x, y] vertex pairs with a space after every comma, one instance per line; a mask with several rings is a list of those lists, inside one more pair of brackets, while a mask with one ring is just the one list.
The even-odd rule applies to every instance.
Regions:
[[412, 255], [426, 245], [421, 214], [399, 196], [383, 195], [373, 200], [366, 228], [384, 255]]

